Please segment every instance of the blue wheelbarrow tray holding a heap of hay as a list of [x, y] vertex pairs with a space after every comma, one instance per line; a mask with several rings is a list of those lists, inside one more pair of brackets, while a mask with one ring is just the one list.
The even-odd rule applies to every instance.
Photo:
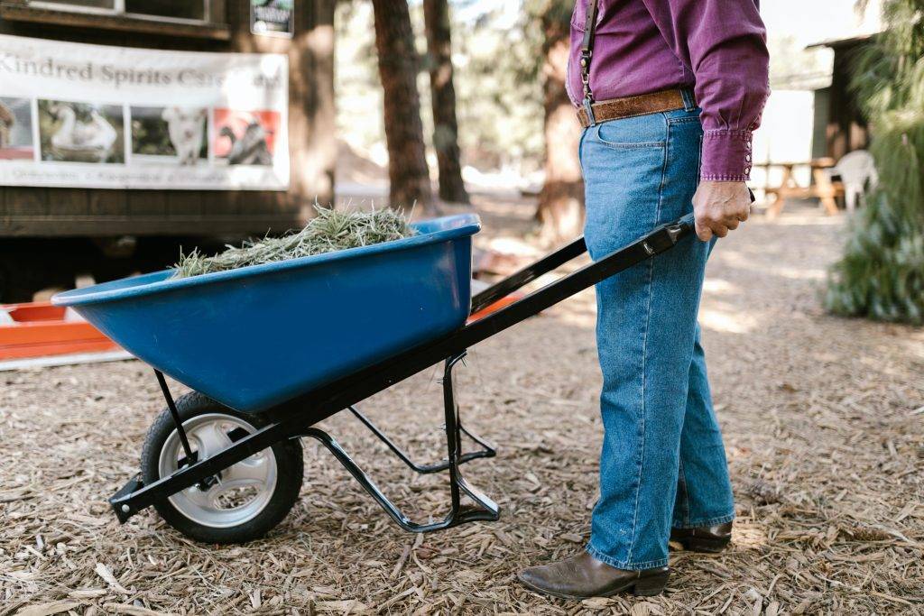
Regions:
[[465, 324], [477, 215], [313, 257], [174, 278], [154, 272], [56, 295], [188, 387], [259, 412]]

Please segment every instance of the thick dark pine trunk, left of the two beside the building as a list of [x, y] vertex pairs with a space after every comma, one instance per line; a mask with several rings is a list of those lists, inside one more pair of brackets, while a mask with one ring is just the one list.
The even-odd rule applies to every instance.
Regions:
[[432, 204], [417, 91], [417, 50], [406, 0], [372, 0], [375, 48], [384, 90], [388, 178], [395, 208], [427, 211]]

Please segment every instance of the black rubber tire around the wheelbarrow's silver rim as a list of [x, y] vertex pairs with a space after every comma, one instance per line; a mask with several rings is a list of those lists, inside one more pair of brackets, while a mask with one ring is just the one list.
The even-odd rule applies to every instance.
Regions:
[[[254, 429], [261, 429], [268, 421], [259, 414], [240, 413], [234, 409], [221, 405], [211, 398], [198, 392], [187, 393], [176, 400], [176, 410], [183, 422], [206, 413], [224, 413], [247, 422]], [[164, 409], [148, 430], [144, 447], [141, 449], [141, 479], [144, 485], [151, 485], [160, 478], [158, 466], [160, 464], [161, 450], [170, 434], [176, 431], [173, 417]], [[301, 489], [304, 475], [302, 461], [301, 441], [288, 439], [277, 442], [272, 446], [276, 458], [276, 486], [273, 496], [263, 508], [249, 521], [226, 528], [214, 528], [201, 525], [190, 520], [186, 515], [176, 510], [173, 504], [164, 499], [154, 503], [154, 509], [161, 514], [164, 521], [176, 528], [187, 537], [205, 543], [245, 543], [263, 537], [276, 525], [283, 521], [286, 514], [298, 501], [298, 491]]]

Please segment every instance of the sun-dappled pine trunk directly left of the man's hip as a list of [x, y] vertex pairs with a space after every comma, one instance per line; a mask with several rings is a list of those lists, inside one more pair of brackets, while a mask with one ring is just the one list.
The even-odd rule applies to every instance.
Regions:
[[[553, 13], [550, 11], [550, 13]], [[584, 225], [584, 181], [577, 161], [580, 125], [565, 91], [568, 22], [543, 18], [545, 62], [542, 66], [545, 107], [545, 184], [536, 219], [541, 239], [550, 243], [579, 236]]]

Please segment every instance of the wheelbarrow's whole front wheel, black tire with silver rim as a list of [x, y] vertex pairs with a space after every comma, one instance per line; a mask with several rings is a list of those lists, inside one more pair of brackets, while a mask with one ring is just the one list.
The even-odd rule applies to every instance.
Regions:
[[[178, 398], [176, 410], [196, 460], [267, 424], [260, 415], [239, 413], [197, 392]], [[173, 417], [164, 410], [144, 441], [141, 478], [149, 485], [187, 462]], [[303, 472], [301, 442], [281, 441], [155, 503], [154, 508], [187, 537], [207, 543], [243, 543], [282, 522], [298, 500]]]

